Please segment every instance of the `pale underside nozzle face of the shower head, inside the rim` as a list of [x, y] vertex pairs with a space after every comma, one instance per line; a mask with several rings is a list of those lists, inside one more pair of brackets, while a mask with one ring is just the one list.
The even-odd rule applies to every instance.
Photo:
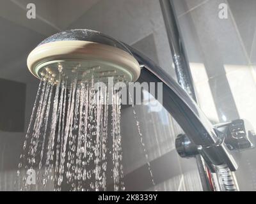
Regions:
[[57, 82], [60, 73], [70, 80], [76, 77], [78, 82], [90, 82], [92, 78], [94, 82], [108, 82], [109, 77], [113, 77], [114, 82], [132, 82], [133, 78], [132, 74], [121, 66], [99, 61], [69, 59], [48, 61], [36, 67], [36, 77], [47, 79], [47, 73], [52, 82]]

